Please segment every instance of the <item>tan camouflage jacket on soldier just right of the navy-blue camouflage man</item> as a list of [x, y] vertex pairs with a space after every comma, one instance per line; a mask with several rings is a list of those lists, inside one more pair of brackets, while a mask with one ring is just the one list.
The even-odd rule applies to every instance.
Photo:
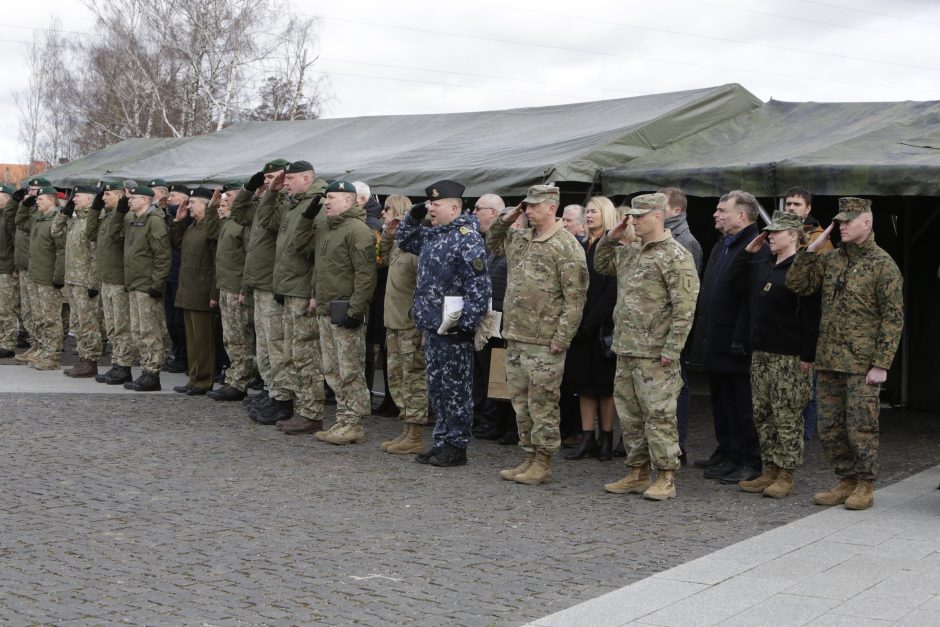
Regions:
[[567, 349], [587, 298], [584, 248], [560, 221], [535, 237], [531, 228], [510, 229], [494, 220], [486, 241], [495, 254], [505, 254], [509, 269], [503, 337]]

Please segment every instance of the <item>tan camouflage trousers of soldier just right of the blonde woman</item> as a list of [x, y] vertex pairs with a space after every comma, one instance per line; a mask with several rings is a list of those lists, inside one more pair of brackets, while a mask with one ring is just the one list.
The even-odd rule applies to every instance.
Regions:
[[614, 405], [620, 416], [623, 444], [630, 450], [627, 466], [679, 468], [676, 403], [681, 389], [678, 361], [664, 366], [658, 357], [617, 355]]

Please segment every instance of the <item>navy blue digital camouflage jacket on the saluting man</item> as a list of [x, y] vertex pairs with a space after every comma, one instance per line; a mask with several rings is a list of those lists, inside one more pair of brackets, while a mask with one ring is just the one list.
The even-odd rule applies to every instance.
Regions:
[[398, 246], [418, 255], [413, 311], [419, 329], [437, 333], [445, 296], [463, 298], [460, 331], [472, 332], [486, 315], [492, 287], [479, 224], [469, 214], [437, 226], [422, 226], [410, 215], [402, 219], [395, 234]]

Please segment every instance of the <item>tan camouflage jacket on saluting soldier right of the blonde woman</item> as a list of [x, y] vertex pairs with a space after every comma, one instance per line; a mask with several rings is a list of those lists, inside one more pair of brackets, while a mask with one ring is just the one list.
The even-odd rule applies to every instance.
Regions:
[[594, 253], [594, 268], [617, 276], [613, 351], [677, 361], [692, 330], [698, 298], [692, 254], [669, 231], [647, 244], [623, 246], [605, 234]]

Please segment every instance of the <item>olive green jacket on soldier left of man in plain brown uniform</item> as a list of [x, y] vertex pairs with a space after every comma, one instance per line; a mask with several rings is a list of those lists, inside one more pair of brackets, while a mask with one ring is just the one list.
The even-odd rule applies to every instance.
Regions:
[[[118, 214], [115, 219], [121, 220]], [[127, 291], [163, 291], [170, 273], [170, 241], [163, 211], [151, 206], [137, 217], [124, 220], [124, 286]]]

